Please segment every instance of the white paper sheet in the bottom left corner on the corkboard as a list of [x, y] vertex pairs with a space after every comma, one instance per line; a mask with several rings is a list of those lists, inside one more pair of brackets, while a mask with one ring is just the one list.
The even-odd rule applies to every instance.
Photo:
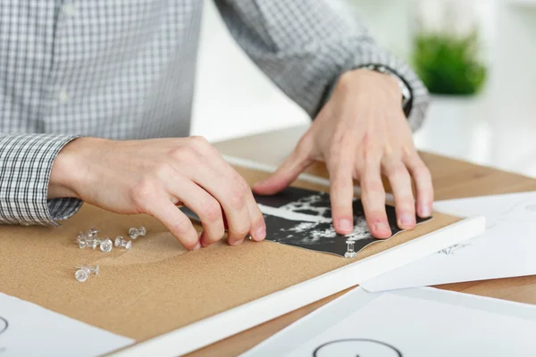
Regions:
[[0, 293], [0, 357], [97, 356], [134, 342]]

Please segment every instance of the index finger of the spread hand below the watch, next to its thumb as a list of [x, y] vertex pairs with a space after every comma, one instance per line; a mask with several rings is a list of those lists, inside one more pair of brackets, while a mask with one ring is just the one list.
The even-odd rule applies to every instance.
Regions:
[[354, 156], [340, 155], [328, 162], [330, 171], [331, 216], [337, 233], [347, 235], [354, 230]]

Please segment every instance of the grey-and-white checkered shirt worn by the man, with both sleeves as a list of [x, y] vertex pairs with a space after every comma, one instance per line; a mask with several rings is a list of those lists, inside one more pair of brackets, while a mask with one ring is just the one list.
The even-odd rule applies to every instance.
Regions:
[[[314, 118], [339, 75], [370, 64], [426, 88], [329, 0], [215, 0], [230, 33]], [[47, 200], [56, 155], [76, 137], [189, 133], [202, 0], [0, 2], [0, 223], [57, 225], [80, 200]]]

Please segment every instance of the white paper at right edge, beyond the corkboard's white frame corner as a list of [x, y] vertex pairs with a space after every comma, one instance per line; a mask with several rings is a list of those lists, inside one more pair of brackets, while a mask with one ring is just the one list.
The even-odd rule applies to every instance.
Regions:
[[486, 232], [364, 281], [369, 291], [536, 274], [536, 192], [439, 201], [439, 212], [483, 215]]

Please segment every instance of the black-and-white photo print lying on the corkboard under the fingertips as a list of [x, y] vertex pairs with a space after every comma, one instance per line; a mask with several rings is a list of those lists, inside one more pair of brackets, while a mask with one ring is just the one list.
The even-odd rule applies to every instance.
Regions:
[[[368, 229], [363, 205], [358, 199], [353, 203], [354, 231], [346, 236], [337, 234], [333, 228], [330, 195], [326, 193], [289, 187], [277, 195], [255, 195], [255, 201], [264, 213], [266, 240], [272, 242], [344, 256], [348, 251], [347, 241], [353, 242], [355, 252], [381, 241]], [[181, 210], [199, 220], [188, 208]], [[391, 232], [396, 235], [402, 230], [397, 226], [395, 209], [386, 206], [386, 212]], [[423, 221], [417, 219], [417, 223]]]

